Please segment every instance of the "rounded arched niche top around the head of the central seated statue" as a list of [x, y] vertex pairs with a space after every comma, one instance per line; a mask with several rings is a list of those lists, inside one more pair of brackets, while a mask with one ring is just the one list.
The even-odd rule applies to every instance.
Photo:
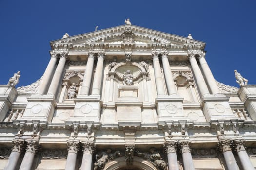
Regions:
[[119, 80], [122, 81], [123, 75], [127, 70], [131, 71], [131, 74], [133, 75], [133, 81], [134, 83], [137, 83], [141, 78], [142, 75], [148, 75], [148, 72], [145, 70], [145, 68], [141, 65], [139, 65], [136, 62], [132, 63], [125, 63], [121, 62], [115, 65], [111, 72], [114, 72], [114, 76]]

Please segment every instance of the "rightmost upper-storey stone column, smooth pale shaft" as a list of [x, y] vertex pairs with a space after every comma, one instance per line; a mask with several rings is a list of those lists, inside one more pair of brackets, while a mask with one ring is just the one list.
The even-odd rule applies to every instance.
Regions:
[[216, 83], [216, 81], [214, 79], [214, 76], [212, 74], [212, 71], [209, 68], [209, 66], [208, 66], [208, 64], [207, 64], [207, 62], [205, 60], [205, 53], [200, 55], [199, 62], [200, 62], [201, 68], [203, 70], [205, 79], [206, 79], [206, 81], [207, 81], [207, 83], [208, 83], [212, 93], [213, 94], [219, 93], [219, 89], [218, 89], [217, 83]]

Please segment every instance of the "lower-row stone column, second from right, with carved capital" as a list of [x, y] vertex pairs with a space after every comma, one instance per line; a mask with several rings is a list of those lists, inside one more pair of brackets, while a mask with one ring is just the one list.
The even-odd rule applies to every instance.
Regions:
[[220, 149], [224, 155], [224, 159], [228, 170], [239, 170], [238, 165], [236, 163], [235, 157], [232, 153], [232, 140], [221, 140], [220, 141]]

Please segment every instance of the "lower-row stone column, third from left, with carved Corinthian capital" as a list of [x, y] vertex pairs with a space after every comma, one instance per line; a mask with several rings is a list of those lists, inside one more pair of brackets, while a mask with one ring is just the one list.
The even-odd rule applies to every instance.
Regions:
[[67, 156], [65, 170], [75, 170], [77, 154], [79, 150], [78, 146], [79, 146], [79, 141], [74, 141], [74, 140], [67, 141], [68, 156]]

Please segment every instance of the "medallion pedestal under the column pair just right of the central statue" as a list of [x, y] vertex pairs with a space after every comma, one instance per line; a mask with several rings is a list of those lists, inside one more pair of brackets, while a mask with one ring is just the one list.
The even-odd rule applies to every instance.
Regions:
[[183, 99], [179, 95], [158, 95], [155, 101], [158, 112], [158, 123], [169, 120], [189, 120], [184, 116]]

